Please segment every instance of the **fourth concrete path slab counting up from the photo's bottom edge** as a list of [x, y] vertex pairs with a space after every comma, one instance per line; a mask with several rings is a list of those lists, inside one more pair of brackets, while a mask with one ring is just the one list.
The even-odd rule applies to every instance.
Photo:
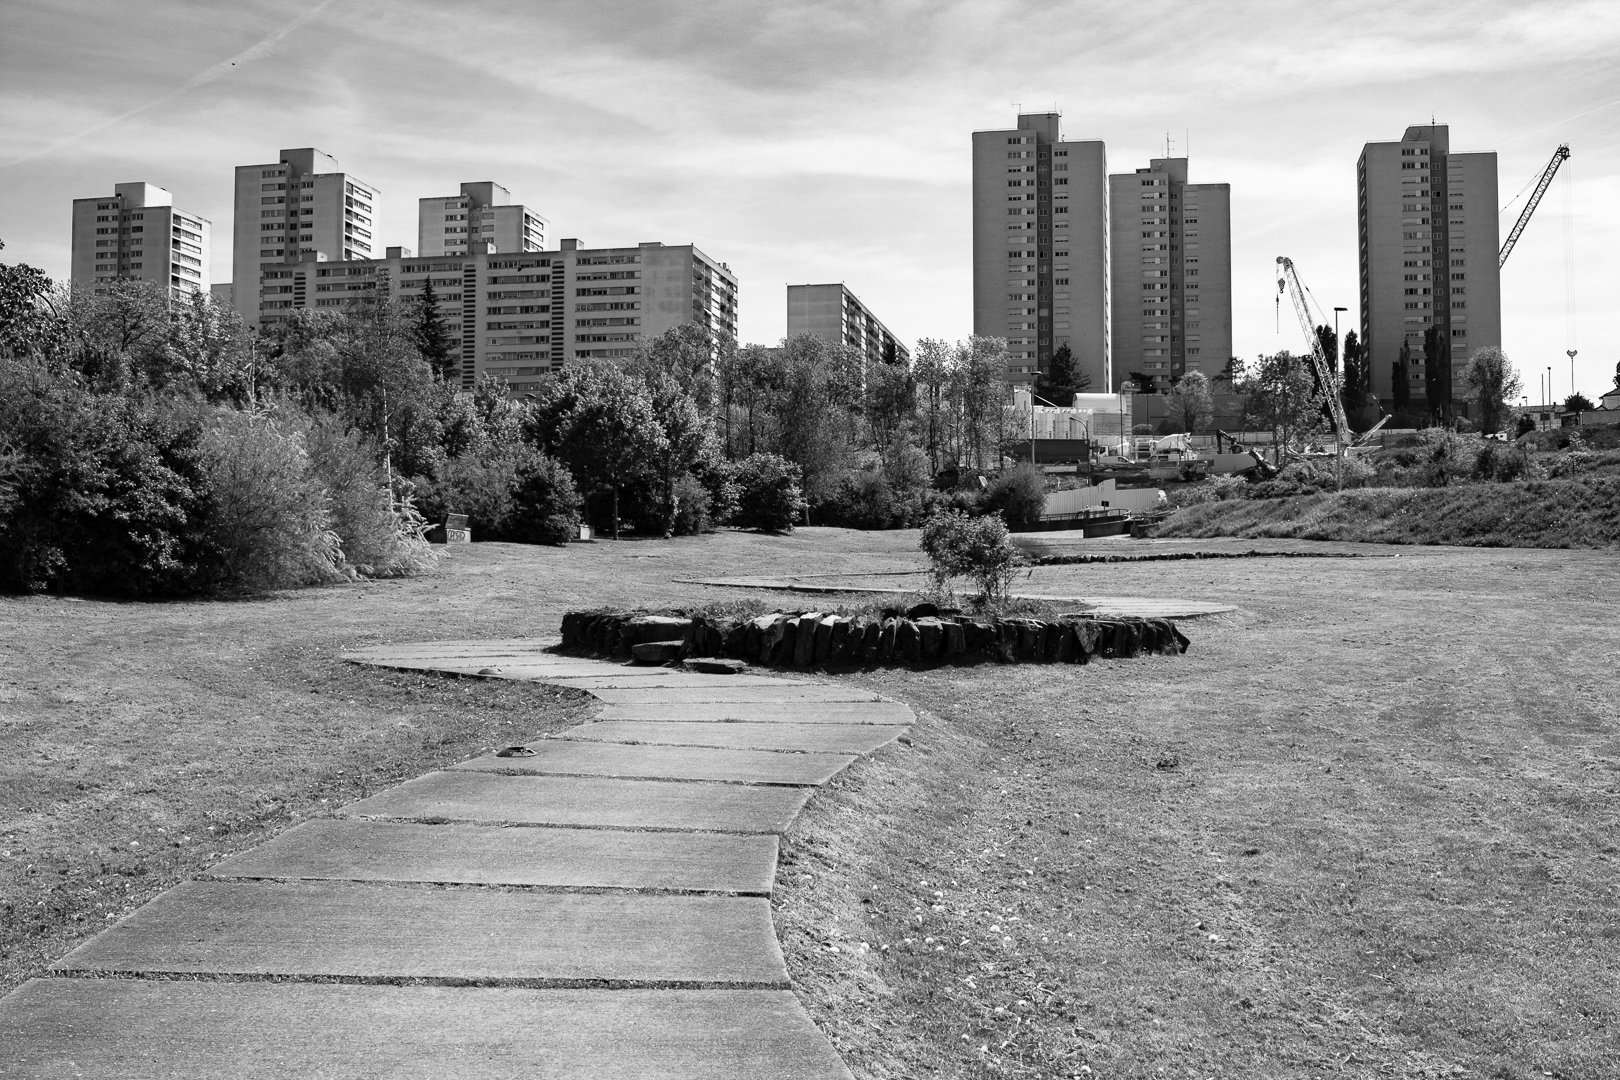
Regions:
[[812, 790], [447, 771], [407, 780], [345, 806], [343, 813], [356, 818], [444, 818], [596, 829], [781, 832], [808, 801]]

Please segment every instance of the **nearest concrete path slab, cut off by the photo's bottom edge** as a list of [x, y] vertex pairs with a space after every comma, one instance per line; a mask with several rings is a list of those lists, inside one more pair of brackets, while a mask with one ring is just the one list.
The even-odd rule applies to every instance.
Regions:
[[34, 980], [15, 1077], [849, 1080], [789, 991]]

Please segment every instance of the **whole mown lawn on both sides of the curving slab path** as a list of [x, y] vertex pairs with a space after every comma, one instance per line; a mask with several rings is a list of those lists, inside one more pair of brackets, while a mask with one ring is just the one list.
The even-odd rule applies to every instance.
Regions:
[[[549, 633], [745, 596], [674, 578], [896, 570], [914, 544], [475, 546], [243, 604], [0, 599], [6, 986], [321, 798], [582, 714], [340, 648]], [[1400, 554], [1043, 567], [1043, 593], [1241, 610], [1184, 623], [1181, 657], [854, 675], [919, 708], [915, 745], [812, 801], [776, 907], [857, 1075], [1617, 1075], [1612, 555]]]

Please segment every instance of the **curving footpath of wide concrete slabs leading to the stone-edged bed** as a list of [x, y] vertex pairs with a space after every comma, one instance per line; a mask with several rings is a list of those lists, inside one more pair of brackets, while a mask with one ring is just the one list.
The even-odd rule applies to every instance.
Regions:
[[348, 654], [604, 709], [156, 897], [0, 1001], [0, 1075], [847, 1078], [771, 925], [778, 836], [912, 711], [544, 644]]

